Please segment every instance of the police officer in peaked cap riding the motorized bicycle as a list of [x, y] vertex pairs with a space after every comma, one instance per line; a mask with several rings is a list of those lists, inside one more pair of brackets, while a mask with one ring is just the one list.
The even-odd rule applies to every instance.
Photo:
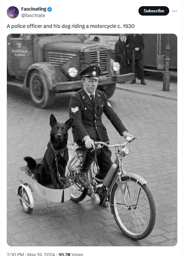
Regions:
[[[109, 142], [107, 130], [104, 127], [101, 116], [103, 112], [111, 121], [116, 130], [125, 138], [131, 136], [122, 124], [120, 118], [112, 109], [107, 96], [98, 91], [97, 85], [101, 69], [99, 66], [91, 65], [80, 72], [83, 88], [71, 97], [69, 104], [69, 116], [73, 118], [72, 134], [74, 142], [87, 150], [86, 160], [83, 164], [83, 173], [80, 182], [83, 186], [88, 183], [87, 171], [95, 157], [94, 141]], [[111, 150], [107, 146], [97, 149], [97, 164], [100, 172], [97, 179], [104, 179], [112, 165]]]

